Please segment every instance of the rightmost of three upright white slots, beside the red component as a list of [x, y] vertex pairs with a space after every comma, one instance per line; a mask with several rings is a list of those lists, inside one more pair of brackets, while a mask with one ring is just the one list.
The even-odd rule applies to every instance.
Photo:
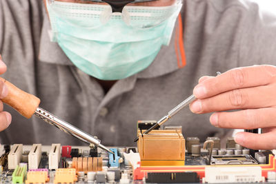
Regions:
[[49, 170], [57, 170], [59, 168], [59, 161], [61, 158], [61, 145], [52, 144], [49, 152]]

